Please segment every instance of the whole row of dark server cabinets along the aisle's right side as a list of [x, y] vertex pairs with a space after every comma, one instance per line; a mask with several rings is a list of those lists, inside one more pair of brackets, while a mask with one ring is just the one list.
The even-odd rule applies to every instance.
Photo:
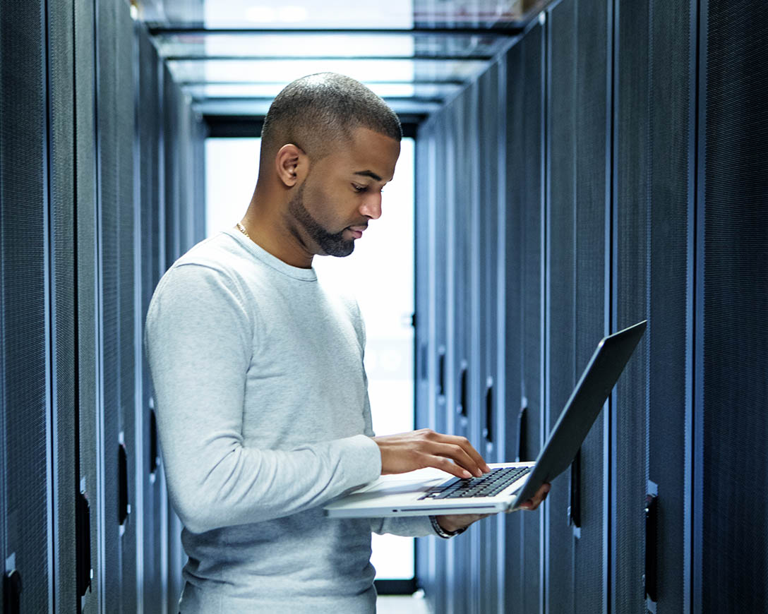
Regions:
[[[450, 118], [449, 142], [468, 144], [470, 169], [473, 160], [492, 168], [484, 144], [499, 115], [505, 132], [496, 282], [485, 275], [492, 249], [482, 244], [483, 225], [498, 215], [492, 193], [471, 170], [448, 188], [476, 209], [456, 203], [453, 249], [483, 263], [449, 276], [457, 288], [449, 331], [475, 335], [474, 345], [460, 336], [456, 344], [456, 405], [467, 416], [464, 424], [457, 414], [454, 432], [494, 454], [472, 431], [475, 418], [488, 421], [493, 292], [503, 297], [507, 457], [535, 457], [598, 338], [649, 320], [541, 511], [506, 518], [501, 533], [473, 527], [468, 540], [445, 546], [458, 553], [440, 597], [452, 611], [492, 608], [494, 582], [505, 586], [508, 612], [764, 604], [765, 538], [754, 520], [764, 516], [764, 489], [742, 484], [737, 467], [762, 466], [765, 455], [768, 109], [757, 94], [766, 82], [757, 41], [766, 28], [748, 2], [559, 0], [429, 120], [434, 140]], [[499, 70], [504, 87], [489, 120]], [[479, 137], [468, 137], [467, 121]], [[462, 286], [480, 297], [469, 311]], [[462, 365], [478, 370], [465, 402]], [[730, 560], [733, 552], [747, 556]], [[485, 574], [494, 561], [503, 572], [491, 581], [450, 580]]]

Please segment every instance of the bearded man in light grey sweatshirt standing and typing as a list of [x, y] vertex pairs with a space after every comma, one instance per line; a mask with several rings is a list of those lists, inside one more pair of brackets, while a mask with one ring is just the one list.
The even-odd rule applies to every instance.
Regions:
[[488, 470], [464, 437], [373, 437], [359, 309], [312, 269], [316, 255], [352, 253], [381, 215], [400, 138], [396, 115], [357, 81], [294, 81], [264, 122], [243, 220], [157, 286], [147, 354], [189, 556], [183, 614], [373, 612], [372, 530], [451, 536], [478, 519], [323, 515], [324, 503], [379, 474]]

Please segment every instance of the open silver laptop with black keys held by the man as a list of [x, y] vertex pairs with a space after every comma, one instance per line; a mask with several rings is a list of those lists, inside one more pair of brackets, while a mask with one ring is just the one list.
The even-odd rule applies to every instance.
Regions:
[[646, 324], [646, 320], [638, 322], [598, 343], [535, 462], [489, 464], [488, 474], [466, 479], [432, 467], [381, 476], [327, 504], [323, 508], [326, 516], [435, 516], [520, 509], [542, 484], [554, 480], [573, 462]]

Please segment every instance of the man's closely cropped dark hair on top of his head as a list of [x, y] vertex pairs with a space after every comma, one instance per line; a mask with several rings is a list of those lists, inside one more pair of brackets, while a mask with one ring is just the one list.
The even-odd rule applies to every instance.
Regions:
[[261, 129], [262, 161], [288, 143], [319, 160], [358, 127], [402, 139], [397, 115], [368, 87], [343, 74], [309, 74], [288, 84], [270, 105]]

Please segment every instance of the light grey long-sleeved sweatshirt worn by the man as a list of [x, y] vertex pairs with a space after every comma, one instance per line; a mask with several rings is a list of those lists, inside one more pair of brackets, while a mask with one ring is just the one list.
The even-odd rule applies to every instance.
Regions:
[[433, 530], [323, 516], [381, 472], [355, 300], [231, 230], [163, 276], [146, 345], [189, 556], [182, 614], [374, 612], [371, 531]]

